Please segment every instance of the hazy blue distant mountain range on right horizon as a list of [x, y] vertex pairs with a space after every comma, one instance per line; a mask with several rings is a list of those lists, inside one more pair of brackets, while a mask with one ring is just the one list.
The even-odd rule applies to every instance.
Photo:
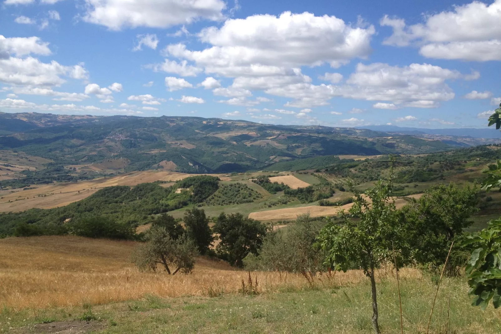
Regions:
[[368, 125], [358, 126], [358, 129], [369, 129], [387, 133], [402, 133], [410, 135], [435, 134], [444, 136], [472, 137], [484, 139], [501, 139], [501, 131], [495, 128], [475, 129], [425, 129], [419, 127], [400, 127], [396, 125]]

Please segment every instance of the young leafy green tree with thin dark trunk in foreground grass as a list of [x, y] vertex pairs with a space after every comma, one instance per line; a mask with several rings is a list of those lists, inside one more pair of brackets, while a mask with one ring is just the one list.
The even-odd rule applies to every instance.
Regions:
[[361, 195], [355, 193], [353, 207], [341, 213], [341, 222], [330, 220], [320, 231], [318, 244], [327, 252], [327, 264], [336, 270], [360, 268], [371, 281], [372, 325], [379, 334], [378, 305], [375, 270], [379, 264], [393, 256], [392, 241], [396, 250], [403, 247], [402, 232], [398, 224], [394, 201], [390, 198], [391, 179], [379, 181], [374, 188]]

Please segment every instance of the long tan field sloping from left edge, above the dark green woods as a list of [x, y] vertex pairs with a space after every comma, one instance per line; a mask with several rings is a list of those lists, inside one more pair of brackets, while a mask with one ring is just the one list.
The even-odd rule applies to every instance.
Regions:
[[83, 200], [105, 187], [136, 186], [140, 183], [155, 181], [179, 181], [190, 176], [194, 174], [146, 171], [91, 181], [34, 186], [34, 189], [20, 189], [15, 192], [3, 190], [0, 191], [0, 212], [57, 208]]

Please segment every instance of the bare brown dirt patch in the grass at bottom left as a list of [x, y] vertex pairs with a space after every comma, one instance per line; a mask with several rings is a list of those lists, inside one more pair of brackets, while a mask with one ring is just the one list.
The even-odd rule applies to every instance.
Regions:
[[99, 321], [58, 321], [50, 323], [38, 323], [33, 326], [22, 328], [18, 333], [59, 333], [59, 334], [80, 334], [90, 331], [101, 330], [105, 324]]

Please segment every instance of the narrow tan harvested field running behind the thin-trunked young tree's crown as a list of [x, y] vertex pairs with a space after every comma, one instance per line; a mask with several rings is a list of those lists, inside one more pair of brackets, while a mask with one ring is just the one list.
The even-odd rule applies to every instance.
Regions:
[[[416, 194], [408, 196], [410, 198], [418, 199], [422, 194]], [[404, 199], [395, 199], [395, 206], [397, 209], [406, 205], [407, 202]], [[312, 205], [307, 207], [299, 208], [285, 208], [277, 210], [259, 211], [252, 212], [249, 214], [249, 218], [253, 218], [259, 221], [281, 221], [281, 220], [294, 220], [298, 215], [309, 213], [311, 217], [326, 217], [326, 216], [336, 216], [342, 210], [348, 211], [353, 206], [353, 203], [343, 205], [341, 207], [321, 207], [319, 205]]]

